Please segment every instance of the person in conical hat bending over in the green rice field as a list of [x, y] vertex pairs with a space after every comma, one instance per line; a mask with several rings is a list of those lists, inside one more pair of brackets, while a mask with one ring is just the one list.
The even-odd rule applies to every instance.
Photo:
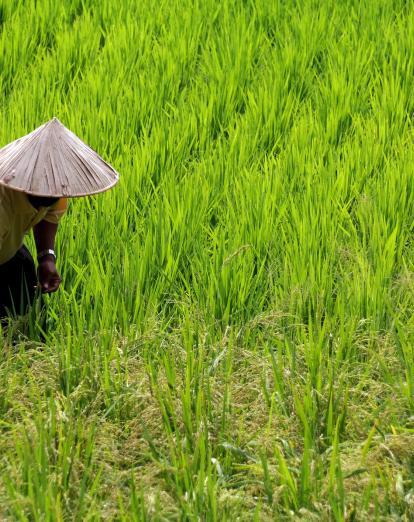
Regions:
[[[55, 292], [55, 236], [67, 198], [111, 188], [118, 173], [57, 118], [0, 149], [0, 319]], [[24, 236], [33, 229], [37, 270]]]

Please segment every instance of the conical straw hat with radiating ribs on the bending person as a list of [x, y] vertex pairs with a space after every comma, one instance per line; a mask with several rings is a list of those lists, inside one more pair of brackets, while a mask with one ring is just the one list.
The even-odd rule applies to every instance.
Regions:
[[0, 184], [43, 197], [97, 194], [119, 174], [57, 118], [0, 149]]

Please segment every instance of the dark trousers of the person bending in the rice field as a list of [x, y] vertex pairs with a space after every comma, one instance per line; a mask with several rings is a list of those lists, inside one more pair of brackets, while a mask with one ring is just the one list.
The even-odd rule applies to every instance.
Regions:
[[23, 245], [12, 259], [0, 265], [0, 319], [25, 314], [33, 304], [36, 286], [33, 257]]

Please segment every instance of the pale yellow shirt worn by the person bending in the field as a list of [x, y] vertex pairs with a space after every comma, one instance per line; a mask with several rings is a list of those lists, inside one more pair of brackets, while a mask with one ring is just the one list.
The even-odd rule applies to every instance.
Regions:
[[11, 259], [22, 246], [24, 235], [43, 219], [58, 223], [67, 208], [60, 199], [51, 207], [34, 208], [27, 194], [0, 185], [0, 265]]

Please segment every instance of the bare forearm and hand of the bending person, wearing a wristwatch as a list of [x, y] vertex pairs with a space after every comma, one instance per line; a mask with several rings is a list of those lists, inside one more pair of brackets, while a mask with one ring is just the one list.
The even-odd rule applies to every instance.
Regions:
[[[54, 250], [57, 227], [57, 223], [50, 223], [46, 220], [40, 221], [33, 227], [37, 253], [49, 248]], [[46, 255], [40, 259], [38, 277], [42, 292], [55, 292], [59, 288], [62, 280], [56, 269], [53, 255]]]

